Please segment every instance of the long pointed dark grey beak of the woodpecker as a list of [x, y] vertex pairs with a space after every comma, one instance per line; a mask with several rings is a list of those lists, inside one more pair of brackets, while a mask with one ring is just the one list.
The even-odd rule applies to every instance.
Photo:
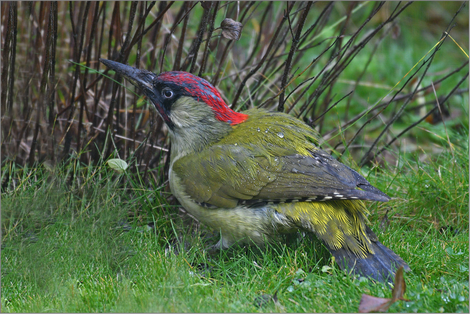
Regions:
[[127, 79], [134, 86], [139, 87], [144, 93], [153, 94], [152, 79], [155, 78], [155, 74], [152, 72], [143, 69], [136, 69], [132, 66], [107, 59], [100, 59], [100, 62]]

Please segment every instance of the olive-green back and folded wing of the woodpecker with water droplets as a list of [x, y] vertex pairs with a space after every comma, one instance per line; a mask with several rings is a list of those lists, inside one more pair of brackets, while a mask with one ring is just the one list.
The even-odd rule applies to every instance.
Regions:
[[317, 134], [300, 120], [265, 110], [245, 113], [250, 118], [223, 140], [174, 163], [173, 171], [196, 202], [230, 208], [286, 199], [388, 200], [317, 148]]

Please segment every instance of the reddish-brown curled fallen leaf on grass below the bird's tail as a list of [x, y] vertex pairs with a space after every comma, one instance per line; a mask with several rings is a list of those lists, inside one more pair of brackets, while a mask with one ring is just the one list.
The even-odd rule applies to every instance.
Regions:
[[364, 293], [360, 298], [359, 313], [386, 312], [398, 300], [409, 301], [403, 298], [406, 289], [407, 285], [403, 279], [403, 267], [400, 267], [395, 273], [392, 298], [373, 297]]

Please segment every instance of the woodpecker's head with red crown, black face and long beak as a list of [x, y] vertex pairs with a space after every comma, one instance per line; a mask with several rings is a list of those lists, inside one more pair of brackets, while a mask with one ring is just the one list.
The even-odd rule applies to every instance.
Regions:
[[100, 61], [139, 87], [170, 129], [214, 122], [233, 126], [248, 118], [228, 108], [214, 86], [191, 73], [170, 71], [157, 75], [111, 60]]

